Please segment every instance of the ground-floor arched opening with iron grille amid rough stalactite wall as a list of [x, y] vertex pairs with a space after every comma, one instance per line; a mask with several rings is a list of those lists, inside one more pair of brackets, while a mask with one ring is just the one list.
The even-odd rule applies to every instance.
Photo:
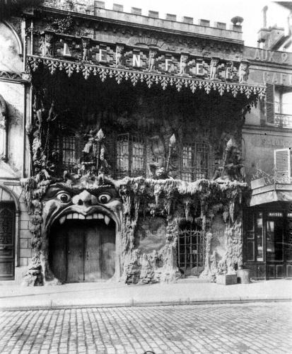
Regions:
[[178, 267], [186, 276], [199, 275], [204, 269], [204, 233], [185, 225], [178, 236]]

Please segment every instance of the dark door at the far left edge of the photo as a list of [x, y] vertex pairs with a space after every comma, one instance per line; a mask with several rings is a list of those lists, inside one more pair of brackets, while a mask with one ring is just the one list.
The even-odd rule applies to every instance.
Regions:
[[0, 280], [14, 279], [14, 215], [13, 203], [0, 203]]

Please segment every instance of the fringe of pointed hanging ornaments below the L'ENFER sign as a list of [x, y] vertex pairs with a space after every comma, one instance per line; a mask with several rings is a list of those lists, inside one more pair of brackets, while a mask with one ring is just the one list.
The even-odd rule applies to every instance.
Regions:
[[182, 76], [172, 76], [164, 74], [154, 74], [146, 72], [138, 72], [134, 70], [118, 69], [103, 67], [102, 65], [83, 64], [77, 62], [69, 62], [59, 59], [37, 57], [35, 55], [29, 55], [27, 57], [27, 64], [31, 71], [35, 72], [40, 64], [49, 69], [51, 74], [54, 74], [57, 70], [63, 70], [70, 77], [74, 72], [83, 74], [85, 79], [88, 79], [90, 75], [99, 76], [101, 81], [105, 81], [107, 77], [115, 78], [117, 84], [121, 84], [122, 81], [131, 81], [133, 86], [137, 82], [145, 82], [150, 88], [153, 84], [160, 84], [162, 89], [165, 90], [168, 86], [175, 86], [177, 91], [180, 91], [182, 87], [189, 87], [194, 93], [197, 89], [204, 89], [206, 93], [211, 90], [218, 91], [222, 96], [223, 93], [232, 93], [234, 97], [238, 93], [244, 93], [247, 98], [255, 95], [260, 99], [264, 98], [266, 93], [265, 86], [255, 86], [247, 84], [233, 84], [230, 82], [191, 79]]

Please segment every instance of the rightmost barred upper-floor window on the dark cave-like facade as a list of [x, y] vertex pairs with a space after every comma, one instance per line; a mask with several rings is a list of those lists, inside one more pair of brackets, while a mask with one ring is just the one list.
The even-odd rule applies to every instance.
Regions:
[[210, 177], [212, 171], [211, 147], [205, 142], [189, 142], [182, 146], [183, 181], [192, 182]]

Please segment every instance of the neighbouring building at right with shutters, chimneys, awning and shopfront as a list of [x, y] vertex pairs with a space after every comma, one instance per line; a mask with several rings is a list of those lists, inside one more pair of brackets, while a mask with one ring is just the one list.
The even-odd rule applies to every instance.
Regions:
[[252, 277], [268, 279], [292, 276], [291, 3], [277, 4], [286, 9], [285, 28], [267, 28], [266, 6], [259, 30], [262, 49], [245, 47], [250, 82], [265, 84], [267, 92], [265, 104], [247, 115], [243, 128], [247, 181], [254, 180], [245, 215], [244, 258]]

